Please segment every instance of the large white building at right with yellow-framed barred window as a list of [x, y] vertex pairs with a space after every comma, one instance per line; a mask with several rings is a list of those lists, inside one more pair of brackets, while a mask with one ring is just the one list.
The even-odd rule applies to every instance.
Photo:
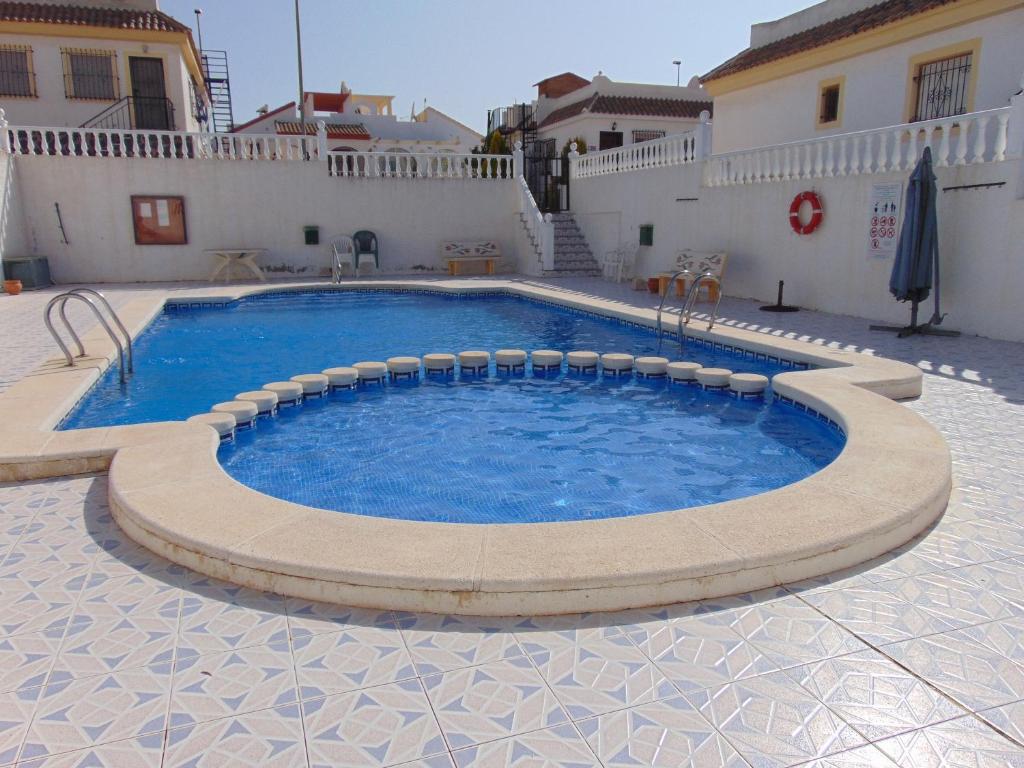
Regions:
[[754, 25], [701, 79], [714, 151], [1007, 106], [1022, 41], [1022, 0], [825, 0]]

